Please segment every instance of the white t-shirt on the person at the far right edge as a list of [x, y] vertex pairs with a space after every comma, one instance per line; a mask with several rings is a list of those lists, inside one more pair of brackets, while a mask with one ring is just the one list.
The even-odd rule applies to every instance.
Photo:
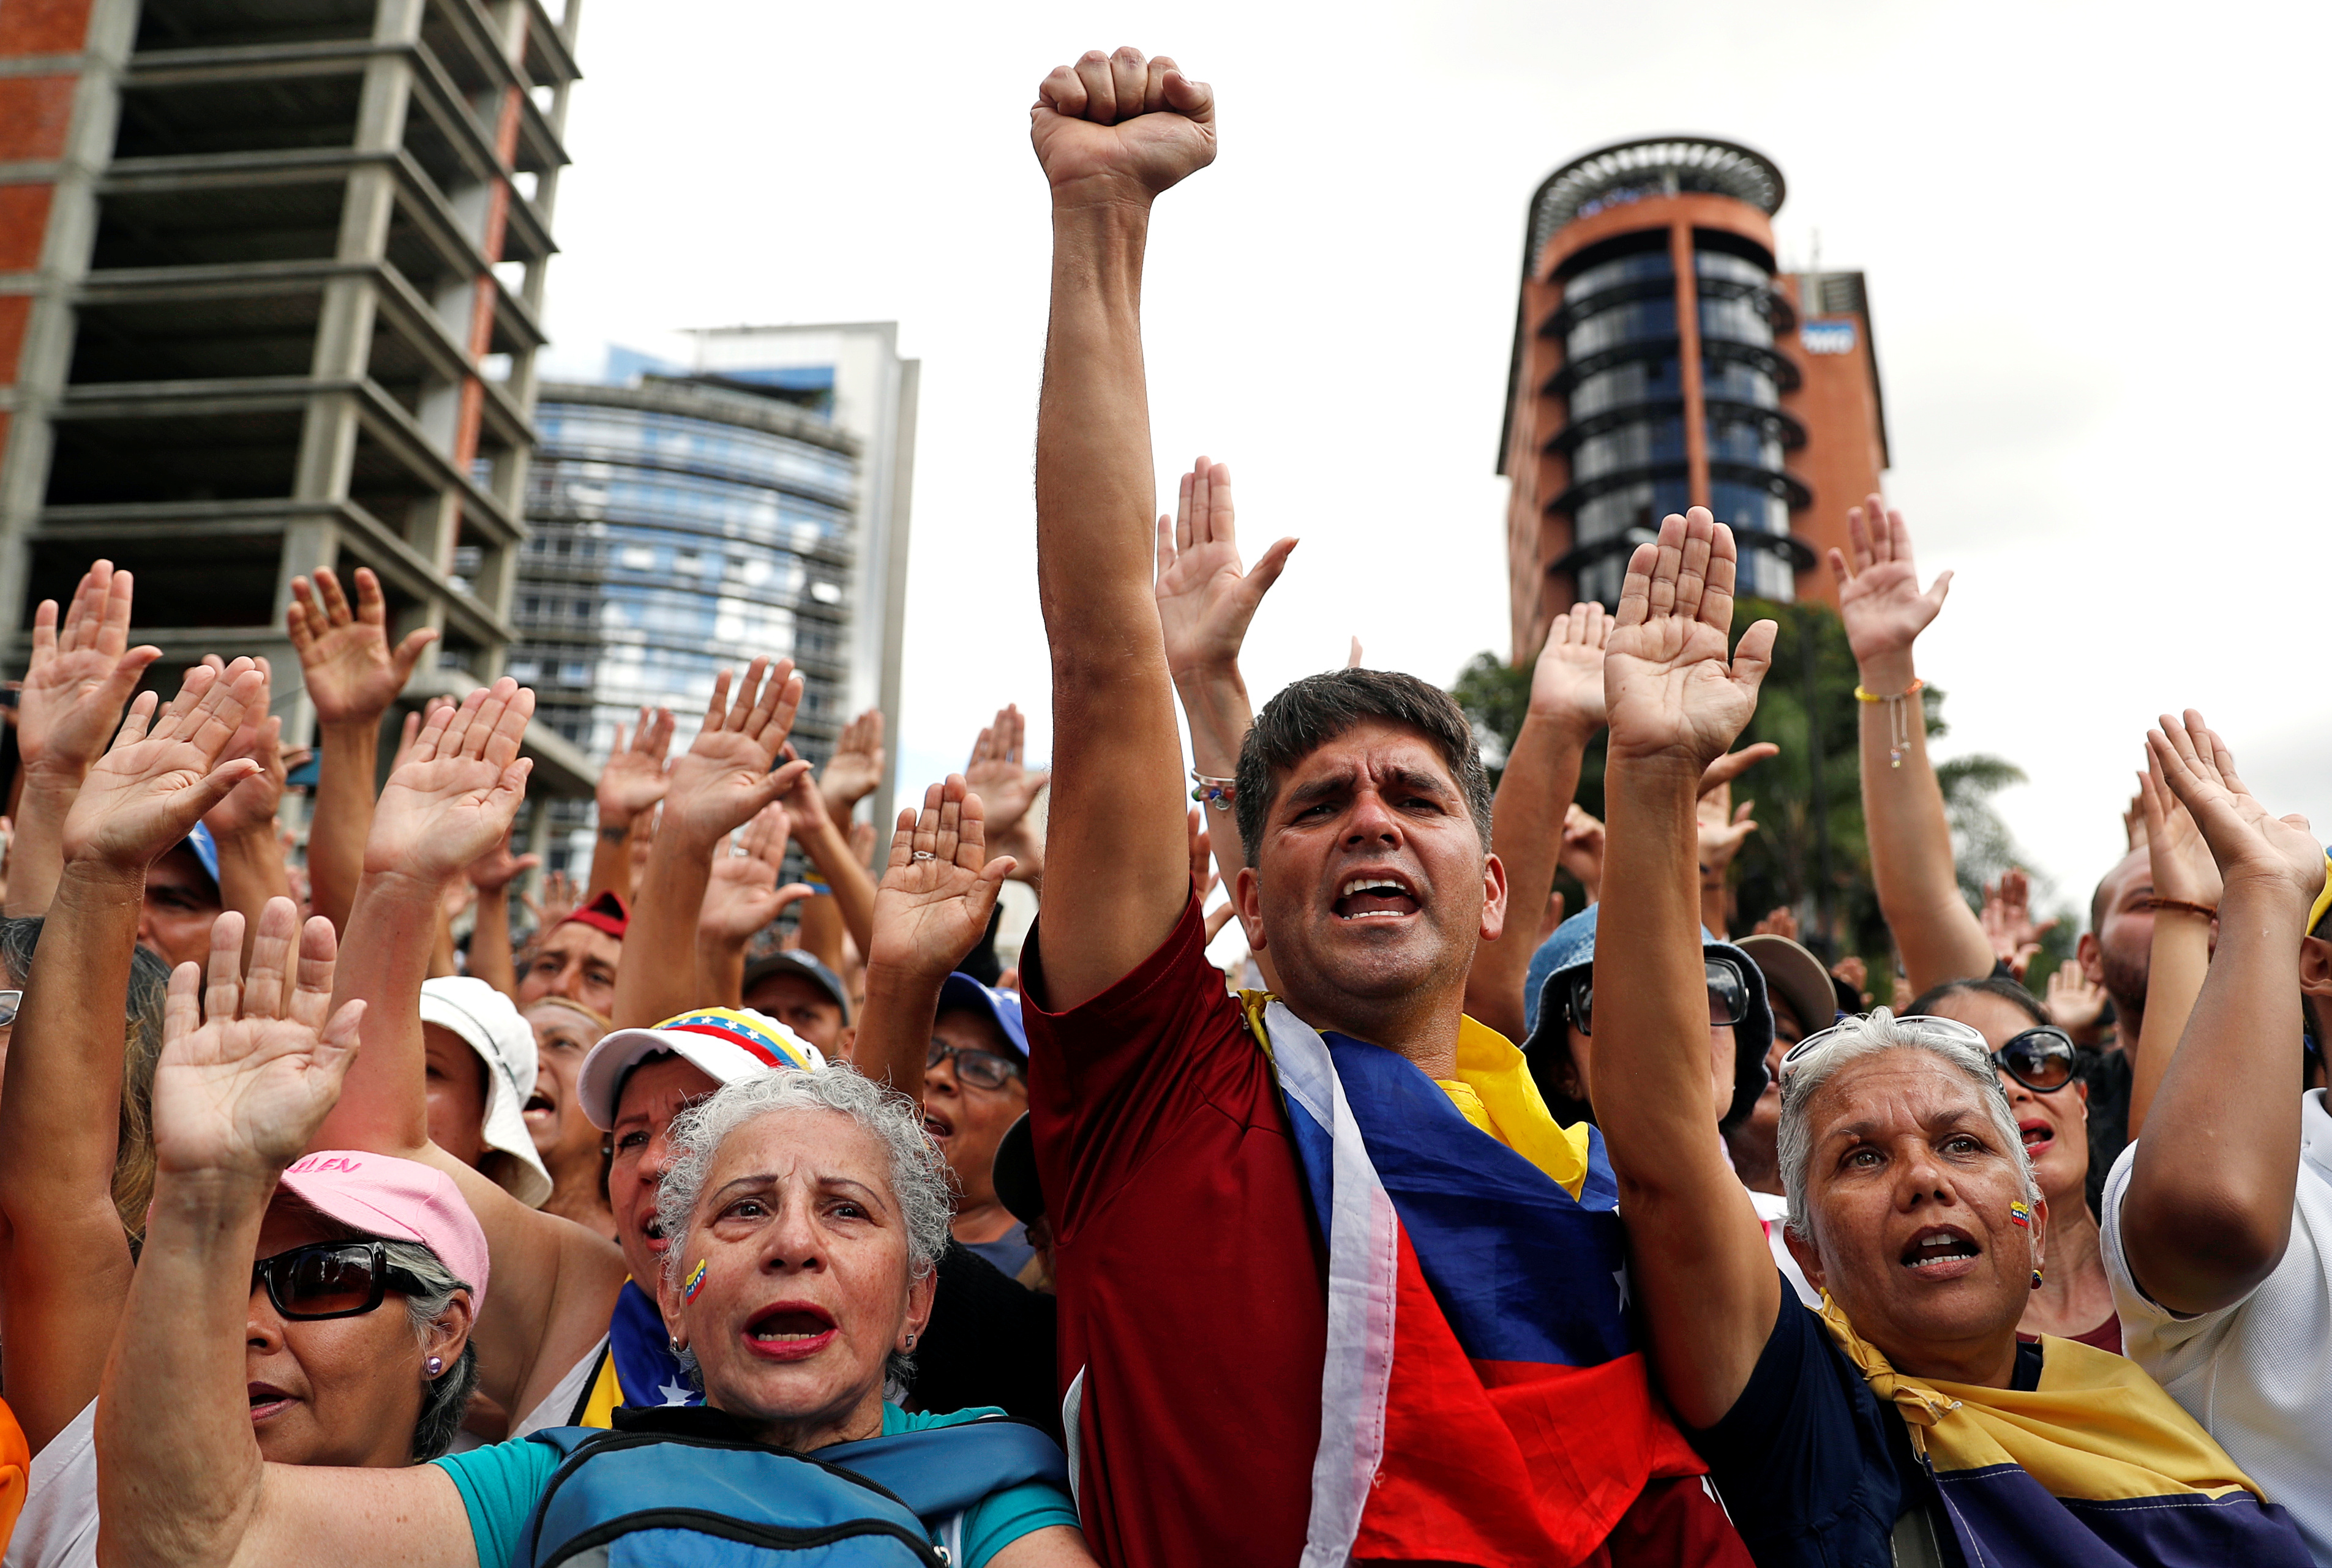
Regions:
[[2204, 1431], [2281, 1503], [2332, 1566], [2332, 1114], [2299, 1100], [2299, 1188], [2283, 1263], [2243, 1300], [2176, 1316], [2138, 1291], [2122, 1251], [2122, 1195], [2138, 1146], [2106, 1177], [2106, 1277], [2122, 1354], [2169, 1389]]

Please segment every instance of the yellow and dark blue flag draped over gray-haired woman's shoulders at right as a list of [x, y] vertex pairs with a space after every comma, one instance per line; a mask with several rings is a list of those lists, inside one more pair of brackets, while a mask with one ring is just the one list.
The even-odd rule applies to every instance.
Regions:
[[2038, 1389], [1982, 1389], [1896, 1372], [1828, 1295], [1821, 1321], [1903, 1417], [1968, 1563], [2306, 1568], [2283, 1510], [2134, 1361], [2043, 1337]]

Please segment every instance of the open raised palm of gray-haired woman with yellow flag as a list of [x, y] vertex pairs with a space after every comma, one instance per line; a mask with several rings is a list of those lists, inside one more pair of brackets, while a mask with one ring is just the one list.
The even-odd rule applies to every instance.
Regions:
[[1674, 757], [1698, 776], [1756, 713], [1777, 627], [1756, 622], [1726, 659], [1735, 564], [1733, 529], [1702, 506], [1637, 545], [1604, 643], [1614, 757]]

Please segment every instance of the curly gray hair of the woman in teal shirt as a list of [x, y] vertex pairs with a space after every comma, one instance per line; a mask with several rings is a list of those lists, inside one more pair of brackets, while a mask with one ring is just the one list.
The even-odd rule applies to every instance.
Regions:
[[[795, 1067], [756, 1072], [674, 1116], [672, 1165], [655, 1193], [655, 1219], [672, 1237], [672, 1251], [665, 1253], [667, 1281], [676, 1284], [686, 1267], [681, 1237], [714, 1174], [721, 1146], [746, 1123], [774, 1111], [835, 1111], [881, 1139], [891, 1153], [891, 1195], [907, 1226], [907, 1277], [916, 1281], [928, 1277], [947, 1251], [956, 1207], [947, 1158], [923, 1132], [923, 1111], [914, 1100], [835, 1062], [816, 1072]], [[893, 1354], [886, 1370], [891, 1379], [905, 1384], [914, 1363]]]

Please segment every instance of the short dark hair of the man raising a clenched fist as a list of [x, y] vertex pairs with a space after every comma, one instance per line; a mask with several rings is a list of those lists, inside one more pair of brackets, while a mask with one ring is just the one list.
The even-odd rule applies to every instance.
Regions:
[[1420, 732], [1441, 753], [1467, 811], [1490, 848], [1490, 769], [1481, 764], [1474, 727], [1448, 692], [1390, 669], [1332, 669], [1306, 676], [1264, 704], [1238, 748], [1238, 843], [1255, 864], [1264, 841], [1264, 818], [1280, 794], [1280, 781], [1304, 757], [1369, 720]]

